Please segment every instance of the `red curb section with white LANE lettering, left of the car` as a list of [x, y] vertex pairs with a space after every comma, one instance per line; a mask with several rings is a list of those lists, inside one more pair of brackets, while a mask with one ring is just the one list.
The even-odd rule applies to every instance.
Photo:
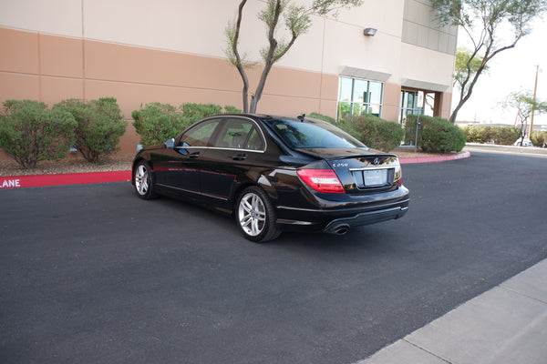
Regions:
[[31, 175], [0, 177], [0, 189], [81, 185], [86, 183], [123, 182], [131, 180], [131, 171], [69, 173], [59, 175]]

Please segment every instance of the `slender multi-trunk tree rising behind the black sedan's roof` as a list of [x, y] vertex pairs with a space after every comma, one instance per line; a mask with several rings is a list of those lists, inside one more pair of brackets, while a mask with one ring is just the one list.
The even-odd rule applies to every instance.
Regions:
[[[335, 14], [341, 8], [361, 5], [362, 0], [314, 0], [311, 4], [310, 2], [306, 2], [306, 5], [294, 5], [291, 0], [267, 0], [266, 8], [258, 14], [258, 19], [266, 25], [268, 45], [260, 51], [264, 65], [263, 72], [256, 90], [251, 95], [250, 106], [249, 78], [245, 69], [254, 65], [246, 61], [239, 51], [243, 8], [246, 4], [247, 0], [241, 1], [236, 19], [226, 26], [225, 34], [228, 43], [226, 55], [232, 65], [237, 68], [243, 80], [243, 112], [254, 113], [263, 95], [266, 79], [272, 67], [291, 49], [300, 35], [308, 32], [312, 25], [311, 16]], [[290, 34], [289, 40], [280, 39], [276, 35], [281, 23], [284, 23], [285, 28]]]

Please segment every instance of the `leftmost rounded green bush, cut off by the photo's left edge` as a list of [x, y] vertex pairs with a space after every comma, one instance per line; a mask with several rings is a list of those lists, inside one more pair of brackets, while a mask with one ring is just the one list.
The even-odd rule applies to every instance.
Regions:
[[0, 118], [0, 147], [21, 167], [33, 168], [38, 161], [66, 157], [76, 126], [67, 111], [33, 100], [8, 100]]

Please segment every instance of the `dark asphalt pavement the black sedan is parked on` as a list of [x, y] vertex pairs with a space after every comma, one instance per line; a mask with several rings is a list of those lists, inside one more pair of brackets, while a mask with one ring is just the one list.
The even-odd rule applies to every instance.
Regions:
[[547, 257], [546, 167], [404, 166], [401, 220], [263, 245], [129, 183], [0, 190], [0, 362], [356, 362]]

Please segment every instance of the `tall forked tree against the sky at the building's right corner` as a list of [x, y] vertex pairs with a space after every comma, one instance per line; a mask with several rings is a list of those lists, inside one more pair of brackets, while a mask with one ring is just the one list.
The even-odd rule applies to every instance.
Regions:
[[[545, 0], [431, 0], [439, 22], [459, 25], [470, 37], [473, 48], [459, 80], [459, 102], [450, 116], [454, 124], [459, 109], [470, 99], [473, 87], [490, 60], [501, 52], [514, 48], [530, 33], [532, 20], [547, 9]], [[504, 31], [511, 28], [512, 37]], [[480, 66], [477, 67], [477, 64]]]

